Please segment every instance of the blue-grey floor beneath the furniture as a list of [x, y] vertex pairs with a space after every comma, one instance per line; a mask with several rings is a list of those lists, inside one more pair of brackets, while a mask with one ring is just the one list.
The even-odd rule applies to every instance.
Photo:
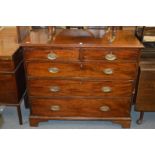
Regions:
[[[29, 110], [25, 109], [22, 103], [23, 125], [19, 125], [15, 107], [6, 107], [2, 113], [3, 124], [2, 129], [35, 129], [29, 126], [28, 117]], [[137, 125], [136, 120], [139, 113], [132, 110], [131, 129], [155, 129], [155, 113], [145, 113], [143, 124]], [[39, 123], [36, 129], [121, 129], [118, 124], [113, 124], [110, 121], [48, 121]]]

